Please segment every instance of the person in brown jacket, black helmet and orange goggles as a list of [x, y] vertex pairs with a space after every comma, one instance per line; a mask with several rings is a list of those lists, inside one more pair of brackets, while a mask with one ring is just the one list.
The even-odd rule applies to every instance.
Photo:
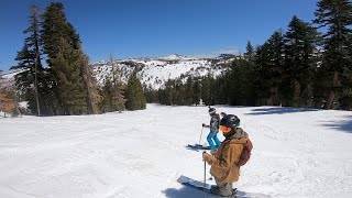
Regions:
[[[210, 174], [217, 183], [211, 191], [220, 196], [233, 196], [232, 183], [239, 180], [240, 156], [244, 144], [249, 141], [249, 135], [240, 125], [240, 119], [234, 114], [227, 114], [220, 121], [220, 130], [226, 140], [218, 151], [202, 154], [202, 158], [211, 166]], [[250, 142], [250, 141], [249, 141]], [[252, 143], [251, 143], [252, 146]], [[251, 148], [252, 150], [252, 148]], [[244, 162], [245, 163], [245, 162]]]

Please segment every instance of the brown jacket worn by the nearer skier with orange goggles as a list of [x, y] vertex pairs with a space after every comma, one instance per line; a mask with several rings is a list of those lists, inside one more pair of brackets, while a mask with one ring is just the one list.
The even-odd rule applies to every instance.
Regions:
[[[242, 129], [238, 129], [242, 130]], [[210, 174], [223, 183], [234, 183], [239, 180], [240, 167], [235, 164], [239, 162], [243, 144], [248, 141], [248, 133], [243, 133], [241, 139], [232, 136], [224, 140], [213, 156], [207, 160], [211, 166]]]

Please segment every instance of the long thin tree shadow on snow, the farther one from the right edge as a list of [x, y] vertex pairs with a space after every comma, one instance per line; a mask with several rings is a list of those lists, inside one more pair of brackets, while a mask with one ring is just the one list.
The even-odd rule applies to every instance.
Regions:
[[308, 108], [288, 108], [288, 107], [277, 107], [277, 108], [258, 108], [253, 109], [253, 112], [245, 113], [252, 116], [260, 114], [285, 114], [285, 113], [295, 113], [295, 112], [308, 112], [308, 111], [319, 111], [318, 109], [308, 109]]

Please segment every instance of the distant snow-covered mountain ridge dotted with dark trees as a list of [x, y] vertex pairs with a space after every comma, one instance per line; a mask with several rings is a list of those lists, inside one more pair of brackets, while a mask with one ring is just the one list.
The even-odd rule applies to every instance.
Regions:
[[217, 58], [195, 58], [177, 54], [155, 58], [129, 58], [108, 62], [102, 61], [94, 64], [97, 80], [103, 85], [106, 78], [112, 78], [112, 66], [122, 70], [122, 80], [127, 81], [131, 72], [139, 67], [138, 77], [142, 84], [157, 89], [168, 79], [182, 78], [186, 80], [188, 76], [200, 77], [208, 74], [215, 77], [224, 69], [224, 64], [233, 57], [219, 56]]

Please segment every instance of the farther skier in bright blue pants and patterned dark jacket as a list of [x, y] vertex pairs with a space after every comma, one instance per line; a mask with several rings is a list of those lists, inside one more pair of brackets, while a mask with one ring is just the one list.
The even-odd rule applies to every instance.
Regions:
[[210, 128], [210, 132], [207, 136], [207, 141], [208, 141], [211, 150], [217, 150], [221, 144], [221, 142], [218, 139], [220, 116], [217, 113], [216, 108], [210, 108], [210, 107], [209, 107], [209, 114], [211, 117], [210, 124], [207, 125], [207, 124], [202, 123], [201, 125], [204, 128]]

